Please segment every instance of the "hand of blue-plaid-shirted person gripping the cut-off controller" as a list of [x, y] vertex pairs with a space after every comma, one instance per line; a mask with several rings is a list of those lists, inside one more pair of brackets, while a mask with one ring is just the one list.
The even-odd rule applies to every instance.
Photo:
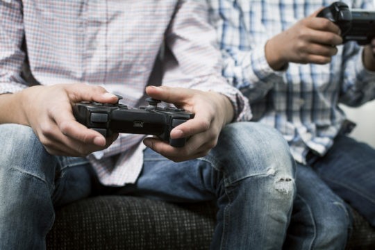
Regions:
[[340, 28], [326, 18], [316, 17], [321, 9], [271, 38], [265, 45], [269, 66], [275, 70], [288, 63], [331, 62], [342, 44]]

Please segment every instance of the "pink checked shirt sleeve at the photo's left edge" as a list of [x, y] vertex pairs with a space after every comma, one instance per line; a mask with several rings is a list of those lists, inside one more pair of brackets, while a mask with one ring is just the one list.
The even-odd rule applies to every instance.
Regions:
[[0, 1], [0, 94], [26, 88], [20, 76], [24, 63], [21, 1]]

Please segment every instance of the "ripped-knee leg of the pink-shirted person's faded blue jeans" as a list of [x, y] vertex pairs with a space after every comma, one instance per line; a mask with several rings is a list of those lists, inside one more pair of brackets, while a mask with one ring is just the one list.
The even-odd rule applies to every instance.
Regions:
[[138, 181], [118, 194], [216, 201], [211, 249], [281, 249], [295, 196], [294, 168], [278, 132], [239, 122], [226, 126], [217, 147], [197, 160], [174, 163], [146, 149]]

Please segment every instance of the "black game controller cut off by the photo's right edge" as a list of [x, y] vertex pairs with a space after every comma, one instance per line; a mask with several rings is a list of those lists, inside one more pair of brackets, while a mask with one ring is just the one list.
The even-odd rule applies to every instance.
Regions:
[[369, 44], [375, 38], [375, 11], [349, 9], [346, 3], [334, 2], [321, 10], [317, 17], [325, 17], [341, 29], [344, 42]]

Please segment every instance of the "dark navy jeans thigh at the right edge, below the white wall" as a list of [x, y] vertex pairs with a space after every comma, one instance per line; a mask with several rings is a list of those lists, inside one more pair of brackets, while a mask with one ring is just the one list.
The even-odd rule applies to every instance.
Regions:
[[375, 150], [344, 135], [314, 163], [319, 176], [375, 226]]

